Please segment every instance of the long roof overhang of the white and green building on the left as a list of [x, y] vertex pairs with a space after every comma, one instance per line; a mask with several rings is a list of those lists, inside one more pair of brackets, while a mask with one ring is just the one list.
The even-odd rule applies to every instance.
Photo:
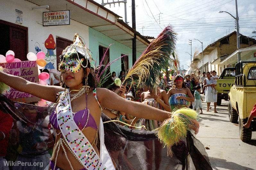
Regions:
[[[132, 38], [136, 32], [127, 24], [118, 21], [122, 18], [114, 12], [93, 0], [28, 0], [33, 4], [42, 6], [49, 5], [51, 11], [70, 10], [71, 19], [85, 24], [93, 29], [109, 36], [110, 38], [132, 47]], [[149, 45], [149, 41], [139, 34], [137, 38], [136, 50], [143, 52]]]

